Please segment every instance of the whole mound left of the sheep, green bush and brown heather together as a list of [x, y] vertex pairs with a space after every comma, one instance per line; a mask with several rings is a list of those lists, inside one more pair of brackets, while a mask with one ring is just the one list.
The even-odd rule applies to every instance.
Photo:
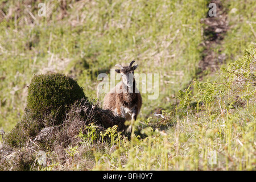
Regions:
[[5, 134], [0, 146], [0, 169], [30, 169], [37, 165], [35, 158], [40, 150], [53, 152], [65, 163], [66, 148], [81, 143], [77, 135], [86, 134], [89, 123], [94, 123], [100, 133], [114, 125], [124, 131], [124, 122], [124, 118], [89, 101], [72, 78], [59, 73], [35, 76], [28, 88], [24, 115]]

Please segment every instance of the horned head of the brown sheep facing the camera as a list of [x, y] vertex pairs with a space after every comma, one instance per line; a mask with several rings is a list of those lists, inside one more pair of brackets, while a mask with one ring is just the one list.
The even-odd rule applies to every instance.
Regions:
[[128, 86], [131, 87], [133, 86], [133, 82], [134, 82], [134, 70], [138, 67], [138, 64], [133, 65], [135, 61], [131, 61], [130, 65], [128, 67], [122, 67], [119, 64], [116, 64], [115, 67], [119, 67], [120, 69], [115, 69], [115, 72], [120, 73], [121, 77], [122, 77], [122, 81], [123, 83]]

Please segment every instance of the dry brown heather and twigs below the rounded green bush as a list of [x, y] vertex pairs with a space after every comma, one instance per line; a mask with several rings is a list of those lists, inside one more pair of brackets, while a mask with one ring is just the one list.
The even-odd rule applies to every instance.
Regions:
[[72, 104], [66, 115], [61, 125], [47, 126], [46, 121], [55, 122], [51, 114], [33, 118], [30, 111], [25, 110], [22, 121], [5, 135], [3, 146], [0, 146], [0, 170], [37, 169], [40, 151], [51, 153], [47, 160], [57, 158], [58, 163], [64, 166], [71, 160], [70, 156], [67, 157], [67, 149], [84, 142], [77, 135], [80, 132], [86, 134], [89, 123], [97, 126], [97, 135], [114, 125], [118, 125], [118, 131], [126, 129], [124, 118], [115, 117], [85, 98]]

